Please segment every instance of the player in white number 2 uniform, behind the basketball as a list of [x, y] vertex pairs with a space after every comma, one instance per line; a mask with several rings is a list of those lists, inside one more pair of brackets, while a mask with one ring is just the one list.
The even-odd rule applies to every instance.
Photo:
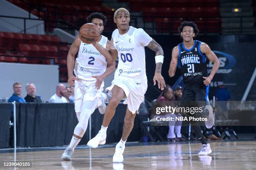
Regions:
[[[107, 18], [102, 13], [92, 13], [87, 18], [88, 23], [97, 25], [101, 34], [106, 21]], [[79, 122], [74, 129], [68, 148], [61, 156], [61, 160], [72, 160], [74, 148], [83, 137], [89, 117], [94, 110], [99, 107], [100, 113], [105, 112], [104, 107], [100, 109], [105, 105], [105, 102], [102, 101], [104, 99], [101, 99], [101, 92], [104, 87], [103, 80], [114, 71], [115, 60], [108, 58], [110, 55], [105, 55], [105, 51], [100, 53], [96, 49], [97, 45], [110, 49], [110, 41], [103, 35], [100, 36], [95, 45], [86, 44], [77, 37], [67, 55], [68, 84], [69, 86], [74, 84], [75, 87], [74, 104]], [[74, 67], [74, 57], [77, 52], [78, 56]], [[76, 77], [73, 75], [73, 70]]]

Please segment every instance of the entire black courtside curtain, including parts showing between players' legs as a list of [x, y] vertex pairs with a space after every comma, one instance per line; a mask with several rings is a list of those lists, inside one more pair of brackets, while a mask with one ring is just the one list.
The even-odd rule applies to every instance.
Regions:
[[[108, 127], [107, 143], [121, 139], [125, 111], [126, 105], [120, 104], [116, 108]], [[17, 103], [16, 115], [17, 146], [20, 147], [68, 145], [78, 123], [73, 103]], [[98, 109], [92, 114], [92, 138], [100, 130], [103, 117]], [[141, 128], [136, 116], [128, 141], [138, 141], [140, 137]], [[88, 140], [89, 124], [79, 145], [87, 144]]]

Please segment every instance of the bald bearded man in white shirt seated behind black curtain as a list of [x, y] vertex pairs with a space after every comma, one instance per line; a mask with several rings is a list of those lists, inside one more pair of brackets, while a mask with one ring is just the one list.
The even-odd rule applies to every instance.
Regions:
[[65, 98], [67, 90], [64, 84], [59, 84], [56, 87], [56, 94], [51, 96], [49, 99], [50, 103], [67, 103], [67, 99]]

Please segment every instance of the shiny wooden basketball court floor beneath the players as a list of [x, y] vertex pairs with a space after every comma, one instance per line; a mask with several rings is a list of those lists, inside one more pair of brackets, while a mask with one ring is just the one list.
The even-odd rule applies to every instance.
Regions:
[[[112, 163], [115, 145], [79, 146], [72, 161], [61, 161], [65, 147], [0, 150], [0, 169], [28, 170], [203, 170], [256, 169], [256, 141], [210, 142], [212, 153], [198, 156], [200, 143], [128, 143], [124, 163]], [[3, 163], [28, 161], [31, 167], [8, 168]]]

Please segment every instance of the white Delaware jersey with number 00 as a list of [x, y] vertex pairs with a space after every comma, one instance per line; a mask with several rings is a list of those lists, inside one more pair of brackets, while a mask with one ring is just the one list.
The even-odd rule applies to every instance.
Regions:
[[118, 29], [112, 34], [111, 48], [118, 51], [116, 76], [146, 77], [145, 46], [152, 38], [141, 28], [130, 26], [128, 32], [120, 35]]

